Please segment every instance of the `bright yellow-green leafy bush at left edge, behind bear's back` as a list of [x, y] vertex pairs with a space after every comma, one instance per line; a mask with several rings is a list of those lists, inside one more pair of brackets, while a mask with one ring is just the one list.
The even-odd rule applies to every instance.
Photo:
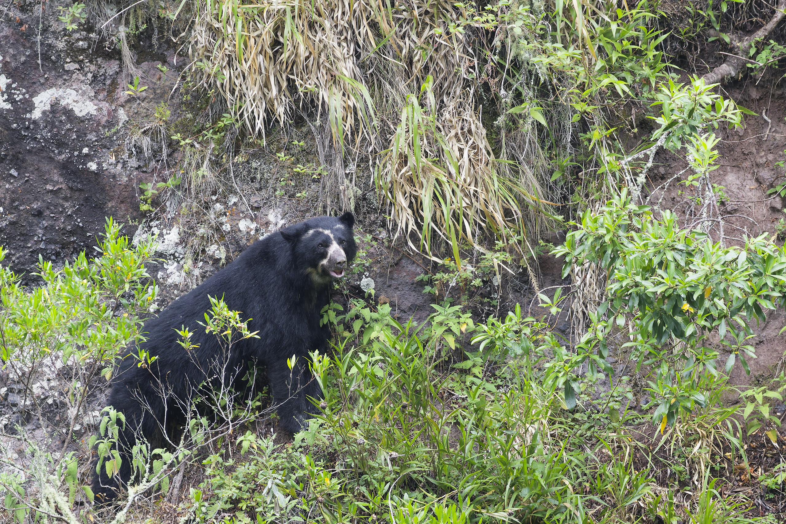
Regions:
[[[4, 361], [31, 364], [50, 354], [64, 363], [90, 359], [108, 378], [119, 350], [138, 337], [138, 313], [158, 291], [144, 281], [154, 240], [131, 248], [127, 236], [119, 234], [121, 227], [107, 219], [96, 258], [83, 252], [59, 271], [40, 259], [35, 274], [44, 285], [34, 291], [25, 291], [16, 275], [0, 269]], [[0, 248], [0, 261], [4, 256]], [[116, 316], [121, 308], [127, 313]]]

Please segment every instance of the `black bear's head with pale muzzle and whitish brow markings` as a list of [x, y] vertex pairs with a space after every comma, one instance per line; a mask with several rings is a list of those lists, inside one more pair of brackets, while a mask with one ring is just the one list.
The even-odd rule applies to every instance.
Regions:
[[347, 272], [358, 252], [354, 244], [354, 214], [317, 217], [281, 229], [292, 245], [296, 266], [310, 274], [314, 284], [328, 284]]

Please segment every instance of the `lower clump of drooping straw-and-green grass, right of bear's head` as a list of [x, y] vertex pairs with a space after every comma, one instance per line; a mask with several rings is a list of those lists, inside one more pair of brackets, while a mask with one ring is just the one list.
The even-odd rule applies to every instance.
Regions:
[[[391, 147], [380, 157], [377, 180], [394, 205], [397, 233], [410, 246], [432, 252], [432, 233], [441, 236], [458, 259], [458, 244], [476, 244], [483, 229], [505, 236], [521, 225], [515, 181], [498, 174], [486, 130], [466, 104], [456, 102], [433, 113], [416, 97], [402, 109]], [[413, 238], [421, 240], [419, 246]]]

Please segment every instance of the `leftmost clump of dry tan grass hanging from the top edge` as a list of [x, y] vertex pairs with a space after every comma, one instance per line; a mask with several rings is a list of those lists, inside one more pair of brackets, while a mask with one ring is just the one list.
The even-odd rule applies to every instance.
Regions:
[[359, 138], [373, 105], [355, 53], [372, 45], [364, 35], [376, 10], [370, 2], [208, 0], [196, 14], [192, 60], [255, 134], [269, 115], [285, 124], [311, 102], [328, 112], [336, 141], [352, 134], [355, 119]]

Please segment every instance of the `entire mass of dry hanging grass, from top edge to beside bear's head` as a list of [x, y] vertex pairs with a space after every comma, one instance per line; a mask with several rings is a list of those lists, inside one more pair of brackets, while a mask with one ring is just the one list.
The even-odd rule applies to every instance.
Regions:
[[439, 237], [457, 258], [483, 233], [520, 234], [527, 250], [527, 231], [553, 224], [551, 171], [533, 126], [500, 144], [501, 159], [487, 138], [476, 105], [483, 31], [444, 0], [205, 0], [190, 53], [252, 134], [316, 108], [336, 152], [323, 136], [340, 207], [354, 196], [344, 157], [376, 156], [398, 233], [429, 254]]

